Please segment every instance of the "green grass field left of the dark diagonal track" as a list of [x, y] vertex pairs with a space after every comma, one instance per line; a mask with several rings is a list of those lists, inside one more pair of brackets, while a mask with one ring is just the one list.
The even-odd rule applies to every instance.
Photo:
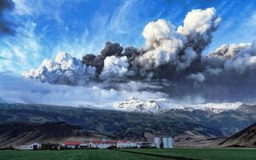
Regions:
[[0, 151], [0, 160], [165, 160], [112, 150]]

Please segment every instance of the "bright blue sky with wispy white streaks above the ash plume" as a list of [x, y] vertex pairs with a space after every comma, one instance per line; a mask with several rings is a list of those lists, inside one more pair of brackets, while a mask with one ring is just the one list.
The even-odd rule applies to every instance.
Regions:
[[192, 9], [213, 7], [222, 18], [213, 34], [212, 49], [224, 43], [256, 39], [253, 0], [14, 0], [6, 17], [15, 23], [15, 36], [0, 37], [0, 71], [38, 67], [45, 58], [66, 51], [81, 58], [98, 54], [106, 41], [143, 47], [143, 27], [157, 19], [183, 25]]

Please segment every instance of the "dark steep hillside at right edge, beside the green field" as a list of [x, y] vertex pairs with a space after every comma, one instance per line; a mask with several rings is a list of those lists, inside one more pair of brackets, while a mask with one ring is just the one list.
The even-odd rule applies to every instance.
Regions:
[[230, 136], [220, 146], [256, 147], [256, 123]]

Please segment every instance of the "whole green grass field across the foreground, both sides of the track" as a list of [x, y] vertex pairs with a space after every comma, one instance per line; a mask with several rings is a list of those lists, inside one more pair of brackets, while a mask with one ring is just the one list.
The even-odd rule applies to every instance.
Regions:
[[[125, 152], [134, 151], [134, 152]], [[151, 156], [137, 154], [150, 153]], [[158, 156], [166, 156], [166, 158]], [[167, 158], [170, 157], [170, 158]], [[124, 149], [114, 150], [66, 150], [66, 151], [0, 151], [0, 160], [165, 160], [173, 157], [187, 157], [195, 159], [223, 159], [249, 160], [256, 159], [254, 149], [202, 149], [202, 148], [175, 148], [175, 149]]]

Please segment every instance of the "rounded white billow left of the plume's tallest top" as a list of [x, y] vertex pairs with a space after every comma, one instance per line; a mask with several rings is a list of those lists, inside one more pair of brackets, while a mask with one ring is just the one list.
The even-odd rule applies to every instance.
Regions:
[[148, 52], [139, 57], [139, 62], [146, 69], [175, 61], [176, 54], [186, 43], [186, 37], [177, 33], [171, 22], [162, 19], [148, 23], [143, 30], [143, 37]]

